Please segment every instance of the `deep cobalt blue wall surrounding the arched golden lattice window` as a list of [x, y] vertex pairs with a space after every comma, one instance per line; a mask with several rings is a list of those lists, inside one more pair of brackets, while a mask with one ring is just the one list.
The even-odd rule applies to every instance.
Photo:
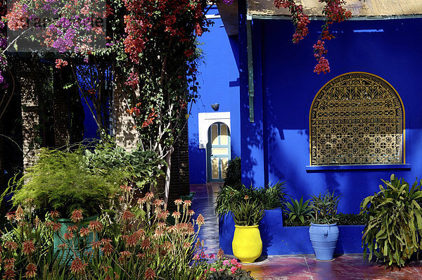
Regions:
[[[312, 46], [319, 37], [322, 21], [313, 20], [309, 36], [293, 44], [294, 30], [289, 20], [254, 20], [255, 123], [248, 120], [247, 80], [241, 79], [244, 184], [262, 186], [286, 181], [290, 195], [305, 199], [329, 189], [343, 193], [341, 212], [356, 213], [364, 197], [379, 191], [381, 178], [389, 179], [395, 173], [413, 183], [416, 177], [422, 177], [421, 23], [421, 19], [405, 19], [335, 24], [332, 30], [336, 38], [326, 42], [331, 72], [316, 75]], [[242, 65], [245, 41], [240, 42]], [[410, 164], [407, 170], [307, 172], [312, 100], [330, 79], [355, 71], [382, 77], [401, 96], [406, 114], [406, 163]]]

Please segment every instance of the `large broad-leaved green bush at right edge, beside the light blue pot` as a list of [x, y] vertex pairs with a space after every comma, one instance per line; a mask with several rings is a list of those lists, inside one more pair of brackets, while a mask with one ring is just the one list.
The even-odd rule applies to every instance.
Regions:
[[411, 255], [422, 248], [422, 191], [418, 181], [410, 187], [394, 174], [384, 181], [380, 191], [362, 201], [361, 214], [369, 215], [362, 246], [364, 258], [376, 257], [388, 265], [404, 266]]

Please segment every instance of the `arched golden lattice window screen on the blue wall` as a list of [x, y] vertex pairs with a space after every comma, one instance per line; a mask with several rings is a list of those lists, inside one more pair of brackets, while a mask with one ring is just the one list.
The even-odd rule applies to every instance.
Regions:
[[397, 91], [369, 73], [335, 77], [309, 115], [311, 165], [404, 163], [404, 111]]

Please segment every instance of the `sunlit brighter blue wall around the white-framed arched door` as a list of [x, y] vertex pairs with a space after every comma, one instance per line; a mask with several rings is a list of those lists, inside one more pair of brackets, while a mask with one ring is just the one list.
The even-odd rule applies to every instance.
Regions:
[[[212, 8], [208, 14], [217, 13], [217, 8]], [[203, 42], [200, 49], [203, 49], [204, 63], [198, 67], [200, 97], [193, 104], [188, 119], [191, 184], [206, 182], [206, 155], [205, 148], [199, 148], [198, 113], [213, 113], [211, 104], [219, 103], [218, 112], [230, 112], [231, 157], [241, 155], [237, 38], [227, 37], [220, 18], [213, 21], [210, 32], [198, 37], [199, 41]]]

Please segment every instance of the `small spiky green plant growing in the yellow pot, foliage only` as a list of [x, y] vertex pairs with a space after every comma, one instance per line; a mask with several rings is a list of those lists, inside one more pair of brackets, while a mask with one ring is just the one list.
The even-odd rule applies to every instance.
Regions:
[[250, 201], [248, 196], [245, 196], [244, 201], [236, 204], [231, 210], [234, 224], [243, 227], [260, 224], [264, 214], [262, 204], [259, 201]]

